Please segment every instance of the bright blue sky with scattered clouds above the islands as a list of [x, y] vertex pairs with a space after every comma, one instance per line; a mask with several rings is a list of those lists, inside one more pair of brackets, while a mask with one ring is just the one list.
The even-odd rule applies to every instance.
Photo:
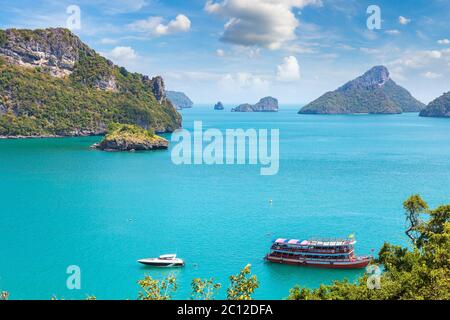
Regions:
[[0, 0], [0, 27], [65, 27], [70, 5], [83, 41], [197, 103], [303, 104], [380, 64], [423, 102], [450, 91], [448, 0]]

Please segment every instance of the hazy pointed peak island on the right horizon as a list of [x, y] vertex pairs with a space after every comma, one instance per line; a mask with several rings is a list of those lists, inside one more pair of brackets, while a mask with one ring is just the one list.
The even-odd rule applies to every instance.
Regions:
[[419, 112], [425, 105], [397, 85], [384, 66], [377, 66], [303, 107], [303, 114], [398, 114]]

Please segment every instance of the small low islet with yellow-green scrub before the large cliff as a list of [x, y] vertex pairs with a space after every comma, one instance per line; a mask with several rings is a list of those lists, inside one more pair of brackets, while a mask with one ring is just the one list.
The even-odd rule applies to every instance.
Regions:
[[109, 125], [104, 139], [91, 148], [102, 151], [146, 151], [168, 147], [169, 142], [151, 130], [133, 124], [113, 123]]

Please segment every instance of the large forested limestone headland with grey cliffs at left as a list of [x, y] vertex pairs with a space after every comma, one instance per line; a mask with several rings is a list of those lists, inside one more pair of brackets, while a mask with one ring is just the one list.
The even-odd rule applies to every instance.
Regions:
[[108, 123], [181, 126], [164, 80], [130, 73], [67, 29], [0, 30], [0, 136], [103, 133]]

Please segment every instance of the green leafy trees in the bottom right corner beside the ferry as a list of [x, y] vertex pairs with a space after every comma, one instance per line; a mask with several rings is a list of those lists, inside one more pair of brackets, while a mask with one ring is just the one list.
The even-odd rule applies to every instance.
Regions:
[[384, 266], [380, 289], [369, 289], [369, 275], [365, 275], [356, 283], [336, 281], [313, 290], [297, 286], [291, 289], [288, 299], [450, 299], [450, 205], [429, 210], [428, 204], [415, 195], [404, 203], [404, 208], [412, 249], [384, 244], [376, 261]]

